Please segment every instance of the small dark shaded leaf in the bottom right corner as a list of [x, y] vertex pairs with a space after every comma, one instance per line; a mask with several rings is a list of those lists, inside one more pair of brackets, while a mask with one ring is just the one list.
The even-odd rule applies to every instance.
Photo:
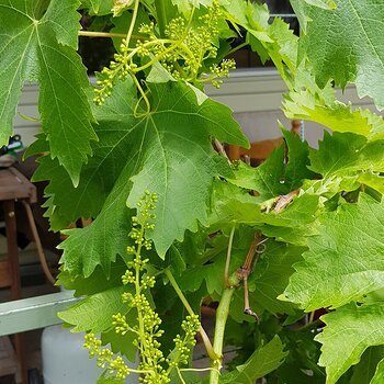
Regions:
[[379, 362], [384, 358], [384, 346], [370, 347], [353, 368], [350, 384], [370, 384]]

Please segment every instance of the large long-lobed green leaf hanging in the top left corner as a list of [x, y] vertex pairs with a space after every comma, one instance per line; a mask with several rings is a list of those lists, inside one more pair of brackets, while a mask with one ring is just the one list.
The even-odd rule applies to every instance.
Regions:
[[23, 83], [38, 80], [38, 109], [50, 156], [58, 158], [75, 185], [92, 155], [90, 143], [97, 139], [86, 93], [90, 83], [76, 53], [78, 5], [77, 0], [53, 0], [41, 16], [31, 1], [0, 0], [0, 144], [8, 144], [12, 134]]

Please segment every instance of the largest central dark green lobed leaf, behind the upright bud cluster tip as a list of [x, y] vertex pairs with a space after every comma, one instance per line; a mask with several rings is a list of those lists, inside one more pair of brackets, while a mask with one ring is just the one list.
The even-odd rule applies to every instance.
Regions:
[[[148, 83], [149, 84], [149, 83]], [[88, 276], [99, 263], [109, 274], [115, 255], [124, 255], [129, 206], [145, 190], [159, 196], [156, 226], [148, 235], [163, 257], [184, 230], [206, 222], [206, 201], [213, 178], [228, 176], [226, 160], [212, 148], [211, 138], [248, 145], [228, 108], [211, 99], [199, 103], [183, 83], [150, 83], [153, 112], [135, 117], [135, 88], [129, 79], [117, 84], [98, 109], [100, 137], [94, 156], [72, 188], [49, 157], [42, 158], [34, 180], [50, 179], [46, 193], [55, 212], [69, 222], [95, 217], [83, 229], [70, 229], [60, 246], [71, 274]], [[90, 199], [92, 196], [92, 199]], [[188, 197], [187, 197], [188, 196]]]

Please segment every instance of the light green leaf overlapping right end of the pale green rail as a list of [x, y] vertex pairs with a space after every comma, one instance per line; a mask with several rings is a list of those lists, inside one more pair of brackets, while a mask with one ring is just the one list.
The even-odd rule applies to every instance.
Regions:
[[127, 314], [129, 305], [122, 302], [122, 294], [127, 287], [117, 286], [108, 291], [95, 293], [71, 305], [58, 317], [75, 326], [75, 332], [91, 331], [99, 334], [111, 328], [112, 316], [121, 313]]

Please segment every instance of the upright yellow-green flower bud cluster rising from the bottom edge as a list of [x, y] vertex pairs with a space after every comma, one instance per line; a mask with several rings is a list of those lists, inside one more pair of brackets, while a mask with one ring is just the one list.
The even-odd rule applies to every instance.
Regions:
[[122, 283], [127, 290], [122, 294], [123, 303], [127, 303], [137, 313], [137, 324], [129, 324], [125, 314], [117, 313], [112, 318], [112, 326], [117, 335], [132, 332], [135, 335], [136, 346], [140, 362], [137, 369], [131, 369], [121, 355], [114, 355], [109, 348], [103, 348], [101, 341], [93, 334], [87, 334], [84, 347], [89, 350], [90, 358], [98, 359], [98, 365], [105, 370], [104, 374], [124, 380], [132, 372], [139, 373], [139, 382], [143, 384], [170, 383], [170, 374], [173, 369], [180, 374], [180, 365], [188, 364], [189, 357], [195, 345], [195, 335], [200, 329], [199, 316], [188, 316], [181, 324], [182, 335], [173, 339], [174, 350], [168, 358], [163, 357], [159, 338], [163, 335], [160, 328], [161, 319], [151, 307], [148, 295], [155, 286], [155, 276], [147, 272], [148, 258], [142, 256], [143, 250], [151, 249], [151, 241], [145, 237], [146, 231], [154, 229], [151, 221], [156, 217], [157, 195], [148, 191], [138, 202], [137, 216], [132, 217], [132, 230], [129, 237], [133, 245], [127, 247], [127, 253], [132, 258], [127, 262], [128, 269], [122, 276]]

